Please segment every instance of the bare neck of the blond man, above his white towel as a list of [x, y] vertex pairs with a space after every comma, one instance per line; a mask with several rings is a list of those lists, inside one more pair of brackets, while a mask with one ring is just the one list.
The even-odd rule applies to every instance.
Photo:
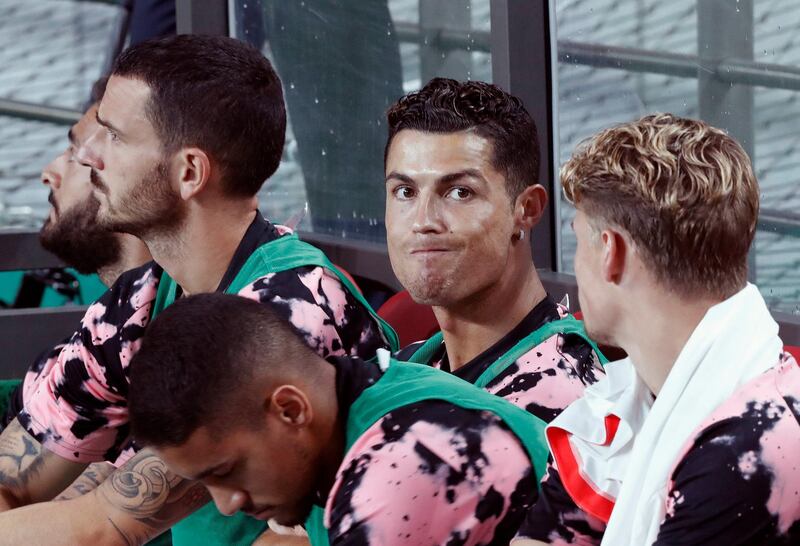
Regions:
[[636, 373], [658, 396], [686, 342], [706, 312], [720, 302], [711, 298], [682, 298], [664, 287], [631, 297], [635, 308], [621, 320], [619, 345], [628, 353]]

